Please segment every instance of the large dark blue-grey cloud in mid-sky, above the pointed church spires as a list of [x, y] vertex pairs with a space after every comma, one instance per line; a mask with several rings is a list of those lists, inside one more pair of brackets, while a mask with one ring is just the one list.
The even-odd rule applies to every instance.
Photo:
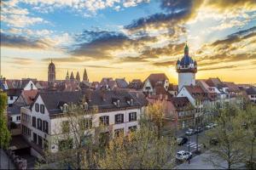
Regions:
[[84, 31], [76, 36], [76, 43], [69, 50], [69, 54], [79, 59], [113, 59], [109, 51], [127, 50], [127, 48], [141, 50], [145, 43], [156, 42], [156, 37], [131, 37], [116, 31]]

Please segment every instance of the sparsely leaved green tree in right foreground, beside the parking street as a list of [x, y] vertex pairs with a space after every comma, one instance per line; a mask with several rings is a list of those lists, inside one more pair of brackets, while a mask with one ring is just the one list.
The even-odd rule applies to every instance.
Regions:
[[243, 133], [238, 114], [239, 110], [235, 105], [218, 108], [218, 127], [207, 132], [208, 139], [218, 139], [218, 144], [210, 147], [211, 156], [207, 159], [216, 167], [222, 167], [219, 160], [226, 161], [229, 169], [236, 168], [245, 161], [244, 146], [241, 143], [246, 134]]

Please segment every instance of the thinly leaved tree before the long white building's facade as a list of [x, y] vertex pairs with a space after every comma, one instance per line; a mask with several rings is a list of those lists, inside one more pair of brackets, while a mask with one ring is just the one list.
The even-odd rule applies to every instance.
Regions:
[[97, 108], [88, 109], [85, 100], [80, 105], [68, 105], [68, 110], [58, 118], [61, 123], [54, 130], [52, 144], [58, 146], [56, 153], [44, 151], [46, 164], [55, 162], [55, 166], [61, 168], [91, 168], [93, 166], [92, 155], [96, 149], [94, 133], [96, 132]]

